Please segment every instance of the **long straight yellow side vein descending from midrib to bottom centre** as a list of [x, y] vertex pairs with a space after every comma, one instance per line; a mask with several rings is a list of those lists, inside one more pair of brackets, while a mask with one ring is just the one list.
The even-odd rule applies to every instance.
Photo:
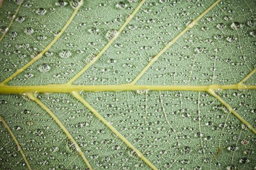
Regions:
[[139, 152], [139, 150], [137, 150], [114, 126], [112, 126], [110, 124], [110, 122], [108, 122], [104, 117], [101, 116], [101, 114], [99, 114], [97, 112], [97, 110], [95, 110], [88, 102], [86, 102], [85, 99], [83, 99], [83, 97], [81, 97], [81, 95], [79, 95], [78, 92], [72, 92], [71, 93], [76, 99], [78, 99], [81, 103], [83, 103], [89, 110], [92, 111], [92, 113], [98, 117], [106, 126], [108, 126], [108, 128], [110, 128], [110, 130], [112, 132], [114, 132], [127, 146], [129, 146], [132, 150], [134, 150], [134, 152], [136, 152], [138, 154], [138, 156], [146, 163], [148, 164], [148, 166], [150, 168], [152, 168], [153, 170], [157, 170], [157, 168], [148, 160], [146, 159], [146, 157], [144, 157], [144, 155]]

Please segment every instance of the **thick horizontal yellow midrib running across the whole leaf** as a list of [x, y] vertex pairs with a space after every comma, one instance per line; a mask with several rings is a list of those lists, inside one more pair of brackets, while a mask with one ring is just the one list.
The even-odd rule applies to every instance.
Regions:
[[23, 94], [23, 93], [70, 93], [72, 91], [215, 91], [219, 90], [249, 90], [256, 89], [256, 85], [230, 84], [209, 86], [191, 86], [191, 85], [71, 85], [71, 84], [48, 84], [38, 86], [0, 86], [0, 94]]

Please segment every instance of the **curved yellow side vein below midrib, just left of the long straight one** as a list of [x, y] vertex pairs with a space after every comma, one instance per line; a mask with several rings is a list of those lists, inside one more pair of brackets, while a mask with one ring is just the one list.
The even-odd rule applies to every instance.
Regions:
[[76, 146], [76, 149], [79, 152], [79, 155], [83, 158], [88, 168], [92, 170], [92, 167], [90, 166], [89, 161], [86, 159], [85, 155], [83, 154], [83, 151], [81, 150], [79, 145], [76, 143], [75, 139], [70, 135], [70, 132], [65, 128], [65, 126], [58, 119], [58, 117], [56, 117], [54, 113], [52, 113], [52, 111], [49, 108], [47, 108], [47, 106], [45, 106], [45, 104], [43, 104], [43, 102], [37, 99], [32, 93], [25, 93], [25, 95], [29, 97], [31, 100], [33, 100], [34, 102], [36, 102], [37, 104], [39, 104], [47, 113], [49, 113], [49, 115], [54, 119], [54, 121], [58, 124], [58, 126], [60, 126], [61, 129], [65, 132], [67, 137], [74, 143], [74, 145]]

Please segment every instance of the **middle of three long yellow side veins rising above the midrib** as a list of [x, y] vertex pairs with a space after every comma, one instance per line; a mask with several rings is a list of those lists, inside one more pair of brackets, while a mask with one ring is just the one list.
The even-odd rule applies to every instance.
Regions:
[[115, 35], [114, 38], [112, 38], [112, 40], [110, 40], [108, 42], [108, 44], [96, 55], [96, 57], [94, 57], [94, 59], [88, 63], [81, 71], [79, 71], [79, 73], [77, 73], [72, 79], [70, 79], [67, 84], [72, 84], [76, 79], [78, 79], [92, 64], [94, 64], [99, 57], [101, 57], [101, 55], [110, 47], [110, 45], [117, 39], [117, 37], [120, 35], [120, 33], [124, 30], [124, 28], [126, 27], [126, 25], [130, 22], [130, 20], [132, 20], [132, 18], [135, 16], [135, 14], [137, 13], [137, 11], [139, 11], [139, 9], [141, 8], [142, 4], [145, 2], [146, 0], [142, 0], [139, 5], [137, 6], [137, 8], [133, 11], [132, 14], [130, 14], [130, 16], [126, 19], [126, 22], [124, 22], [124, 24], [120, 27], [120, 29], [118, 30], [117, 34]]

